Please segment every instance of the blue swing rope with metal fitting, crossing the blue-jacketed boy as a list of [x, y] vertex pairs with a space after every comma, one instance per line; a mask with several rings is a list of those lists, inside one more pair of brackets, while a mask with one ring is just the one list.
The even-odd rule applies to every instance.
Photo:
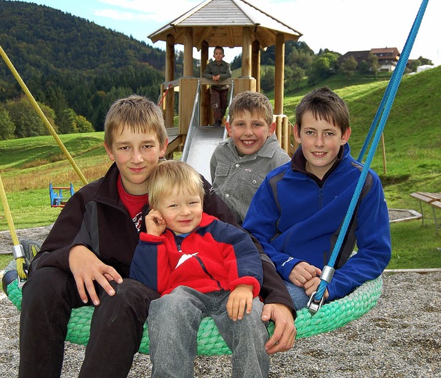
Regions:
[[[368, 135], [365, 139], [365, 143], [362, 146], [360, 156], [358, 157], [358, 161], [360, 161], [360, 162], [365, 155], [365, 151], [367, 149], [367, 144], [371, 140], [371, 137], [373, 135], [373, 131], [375, 129], [375, 125], [378, 123], [378, 118], [380, 117], [380, 114], [381, 114], [382, 116], [380, 119], [380, 123], [378, 125], [377, 130], [376, 130], [375, 136], [373, 137], [371, 147], [369, 148], [369, 152], [367, 155], [365, 166], [363, 167], [360, 178], [358, 179], [356, 190], [353, 193], [351, 203], [349, 203], [349, 208], [347, 210], [347, 214], [346, 214], [345, 219], [343, 221], [342, 228], [340, 229], [340, 232], [338, 234], [338, 238], [337, 238], [336, 244], [334, 246], [334, 250], [332, 250], [331, 257], [329, 258], [327, 266], [325, 266], [325, 268], [323, 268], [322, 275], [320, 276], [320, 285], [318, 286], [316, 292], [311, 295], [311, 299], [313, 299], [313, 297], [314, 297], [314, 301], [312, 301], [311, 299], [309, 300], [308, 308], [309, 308], [309, 311], [313, 315], [320, 308], [320, 306], [323, 302], [323, 295], [325, 293], [326, 286], [331, 281], [332, 275], [334, 275], [334, 263], [336, 262], [336, 259], [338, 257], [338, 252], [340, 251], [343, 239], [345, 238], [347, 228], [349, 227], [349, 222], [351, 221], [351, 218], [353, 215], [353, 211], [356, 207], [356, 203], [358, 201], [358, 198], [360, 197], [360, 192], [361, 192], [362, 187], [365, 183], [365, 179], [366, 179], [367, 173], [369, 171], [369, 166], [371, 165], [373, 155], [375, 155], [376, 148], [378, 146], [378, 143], [380, 141], [380, 137], [382, 135], [382, 132], [384, 130], [384, 126], [387, 121], [387, 117], [389, 117], [389, 112], [391, 111], [393, 100], [395, 99], [396, 93], [398, 91], [398, 87], [400, 86], [402, 74], [404, 73], [404, 69], [406, 68], [407, 60], [409, 59], [409, 55], [410, 55], [412, 47], [413, 47], [413, 42], [415, 41], [416, 35], [418, 34], [418, 30], [421, 25], [422, 17], [424, 16], [424, 12], [427, 8], [428, 2], [429, 2], [429, 0], [423, 0], [421, 3], [420, 10], [418, 10], [418, 14], [416, 16], [415, 21], [413, 22], [411, 32], [409, 33], [409, 37], [407, 37], [407, 41], [404, 44], [404, 48], [403, 48], [402, 54], [400, 55], [400, 59], [398, 59], [396, 69], [393, 71], [393, 74], [391, 76], [391, 80], [389, 81], [389, 84], [386, 88], [386, 91], [384, 92], [384, 96], [381, 100], [380, 106], [378, 107], [376, 115], [375, 115], [373, 122], [371, 124], [371, 128], [369, 129]], [[383, 108], [384, 108], [384, 112], [383, 112]], [[317, 306], [316, 303], [319, 303], [319, 305]]]

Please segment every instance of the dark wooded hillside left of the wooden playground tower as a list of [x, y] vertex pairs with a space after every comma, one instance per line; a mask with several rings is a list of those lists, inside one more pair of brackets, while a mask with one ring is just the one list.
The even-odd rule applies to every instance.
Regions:
[[[158, 98], [163, 50], [34, 3], [1, 0], [0, 14], [1, 46], [59, 132], [103, 130], [110, 104], [127, 94]], [[44, 134], [37, 126], [23, 130], [12, 111], [25, 104], [23, 91], [0, 63], [0, 126], [8, 125], [0, 138]]]

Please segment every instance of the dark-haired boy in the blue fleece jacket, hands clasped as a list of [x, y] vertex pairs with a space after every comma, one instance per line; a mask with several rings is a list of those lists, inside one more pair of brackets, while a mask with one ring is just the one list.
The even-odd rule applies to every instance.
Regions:
[[[349, 110], [336, 93], [318, 88], [307, 94], [296, 108], [294, 137], [301, 146], [267, 175], [243, 222], [274, 261], [296, 309], [307, 306], [320, 284], [360, 177], [350, 135]], [[325, 299], [380, 276], [390, 259], [387, 204], [378, 175], [369, 170]]]

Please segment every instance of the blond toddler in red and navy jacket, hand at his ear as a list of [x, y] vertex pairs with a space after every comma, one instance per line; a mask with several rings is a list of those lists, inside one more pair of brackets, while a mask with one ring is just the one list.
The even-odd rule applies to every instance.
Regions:
[[159, 163], [148, 193], [152, 210], [130, 277], [161, 294], [147, 318], [152, 377], [193, 376], [197, 332], [208, 316], [232, 350], [233, 375], [267, 377], [263, 269], [251, 237], [203, 212], [203, 182], [183, 161]]

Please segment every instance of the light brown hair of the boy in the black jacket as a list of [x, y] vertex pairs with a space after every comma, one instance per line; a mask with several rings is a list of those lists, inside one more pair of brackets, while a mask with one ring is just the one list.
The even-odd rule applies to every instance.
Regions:
[[114, 130], [120, 127], [130, 128], [132, 132], [154, 132], [161, 147], [167, 140], [161, 108], [137, 94], [116, 100], [110, 106], [104, 122], [104, 142], [108, 147], [112, 146]]

